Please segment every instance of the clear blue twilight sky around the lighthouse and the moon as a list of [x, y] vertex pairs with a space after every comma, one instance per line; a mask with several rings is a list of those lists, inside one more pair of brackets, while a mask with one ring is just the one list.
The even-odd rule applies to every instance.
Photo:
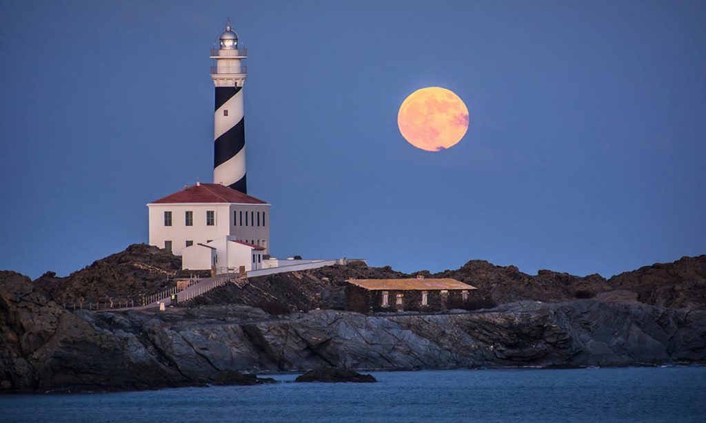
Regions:
[[[277, 257], [603, 276], [706, 253], [704, 1], [3, 1], [0, 269], [148, 238], [213, 177], [209, 49], [249, 48], [249, 192]], [[421, 87], [469, 130], [397, 129]]]

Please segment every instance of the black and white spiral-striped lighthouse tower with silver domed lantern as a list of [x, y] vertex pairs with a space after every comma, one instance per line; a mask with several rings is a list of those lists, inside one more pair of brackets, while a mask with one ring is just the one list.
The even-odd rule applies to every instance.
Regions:
[[245, 173], [245, 115], [243, 84], [248, 76], [243, 61], [247, 49], [238, 45], [230, 25], [220, 35], [218, 49], [211, 50], [211, 78], [216, 87], [213, 133], [213, 183], [247, 193]]

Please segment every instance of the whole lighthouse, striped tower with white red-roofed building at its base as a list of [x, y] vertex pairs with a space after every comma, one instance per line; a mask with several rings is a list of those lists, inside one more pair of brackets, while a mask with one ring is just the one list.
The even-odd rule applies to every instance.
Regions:
[[346, 259], [278, 260], [271, 256], [270, 204], [246, 192], [243, 85], [248, 71], [243, 61], [247, 56], [236, 32], [225, 25], [210, 54], [215, 62], [211, 68], [215, 85], [213, 183], [197, 181], [148, 203], [149, 243], [181, 256], [181, 269], [231, 276], [243, 270], [273, 274], [294, 271], [294, 265], [316, 269], [345, 264]]

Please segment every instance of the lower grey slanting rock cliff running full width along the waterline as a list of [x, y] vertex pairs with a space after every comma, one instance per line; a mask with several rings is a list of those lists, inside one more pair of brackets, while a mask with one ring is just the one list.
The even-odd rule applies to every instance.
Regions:
[[0, 281], [3, 391], [228, 383], [243, 381], [240, 371], [323, 366], [706, 362], [706, 311], [645, 305], [630, 295], [450, 314], [313, 310], [273, 317], [245, 305], [68, 312], [24, 276], [2, 272]]

